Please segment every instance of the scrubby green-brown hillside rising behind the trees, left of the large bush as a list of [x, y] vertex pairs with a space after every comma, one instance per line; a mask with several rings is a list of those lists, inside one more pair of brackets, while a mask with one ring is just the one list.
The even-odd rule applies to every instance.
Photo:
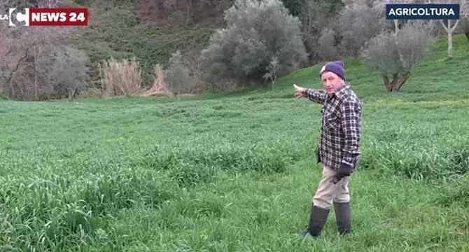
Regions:
[[[72, 44], [88, 52], [92, 62], [136, 57], [144, 83], [151, 83], [155, 64], [167, 66], [176, 50], [200, 50], [213, 30], [223, 25], [221, 11], [188, 20], [183, 1], [173, 2], [176, 6], [167, 10], [162, 7], [165, 1], [87, 2], [90, 25], [74, 34]], [[199, 2], [203, 1], [193, 4]], [[208, 7], [202, 4], [197, 8]], [[192, 11], [197, 14], [197, 9]]]

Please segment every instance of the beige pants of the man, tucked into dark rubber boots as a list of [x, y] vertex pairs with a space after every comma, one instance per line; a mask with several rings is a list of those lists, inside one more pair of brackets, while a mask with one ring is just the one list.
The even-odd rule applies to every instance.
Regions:
[[346, 203], [350, 201], [349, 180], [350, 176], [345, 176], [336, 184], [332, 183], [335, 171], [323, 167], [321, 182], [319, 183], [316, 194], [313, 197], [313, 204], [322, 209], [330, 209], [333, 202]]

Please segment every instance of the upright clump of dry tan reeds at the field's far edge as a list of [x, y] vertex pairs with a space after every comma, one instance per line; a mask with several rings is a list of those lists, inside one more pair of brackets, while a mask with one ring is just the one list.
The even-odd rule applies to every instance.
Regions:
[[100, 64], [103, 94], [108, 97], [135, 95], [142, 92], [141, 69], [139, 62], [132, 57], [130, 61], [118, 61], [111, 57]]

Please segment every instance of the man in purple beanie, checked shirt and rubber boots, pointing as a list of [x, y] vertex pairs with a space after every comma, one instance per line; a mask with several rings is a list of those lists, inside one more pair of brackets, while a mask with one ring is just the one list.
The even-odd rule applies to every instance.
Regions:
[[316, 150], [322, 177], [311, 204], [308, 228], [299, 237], [319, 237], [332, 204], [339, 233], [351, 232], [349, 178], [360, 161], [361, 102], [346, 83], [344, 63], [325, 64], [320, 76], [324, 90], [294, 85], [297, 98], [307, 97], [323, 105], [321, 141]]

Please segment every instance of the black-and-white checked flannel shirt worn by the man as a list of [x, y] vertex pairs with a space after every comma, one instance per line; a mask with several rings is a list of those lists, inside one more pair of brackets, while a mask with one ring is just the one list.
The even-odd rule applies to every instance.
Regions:
[[318, 162], [335, 171], [343, 164], [356, 169], [360, 162], [361, 102], [355, 92], [347, 83], [334, 94], [306, 89], [303, 95], [323, 105]]

